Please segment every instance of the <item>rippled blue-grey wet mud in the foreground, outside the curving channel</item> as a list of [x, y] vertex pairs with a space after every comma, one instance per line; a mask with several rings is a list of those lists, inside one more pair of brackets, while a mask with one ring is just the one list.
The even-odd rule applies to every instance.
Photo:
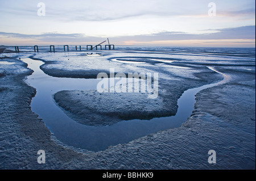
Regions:
[[[18, 57], [0, 61], [15, 62], [0, 70], [0, 169], [255, 169], [255, 62], [245, 68], [214, 62], [232, 81], [199, 92], [181, 127], [94, 153], [56, 141], [31, 112], [36, 90], [23, 81], [31, 70]], [[45, 165], [37, 163], [39, 149], [46, 150]], [[207, 161], [210, 149], [217, 164]]]

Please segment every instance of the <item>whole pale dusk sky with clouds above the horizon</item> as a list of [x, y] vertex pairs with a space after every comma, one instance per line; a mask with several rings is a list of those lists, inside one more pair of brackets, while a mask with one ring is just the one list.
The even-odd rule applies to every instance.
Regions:
[[0, 0], [0, 45], [255, 47], [255, 0]]

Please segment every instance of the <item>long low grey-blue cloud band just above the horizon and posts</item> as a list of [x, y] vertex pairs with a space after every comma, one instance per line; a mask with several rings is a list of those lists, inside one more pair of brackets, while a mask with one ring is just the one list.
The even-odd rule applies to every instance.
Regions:
[[[255, 26], [244, 26], [236, 28], [217, 29], [215, 33], [204, 33], [200, 35], [185, 32], [159, 32], [150, 35], [117, 36], [112, 37], [113, 42], [122, 43], [126, 41], [149, 42], [168, 40], [255, 40]], [[39, 42], [100, 42], [106, 37], [86, 36], [82, 33], [42, 33], [40, 35], [26, 35], [22, 33], [0, 32], [0, 36], [16, 39], [34, 39]], [[223, 41], [222, 41], [223, 42]]]

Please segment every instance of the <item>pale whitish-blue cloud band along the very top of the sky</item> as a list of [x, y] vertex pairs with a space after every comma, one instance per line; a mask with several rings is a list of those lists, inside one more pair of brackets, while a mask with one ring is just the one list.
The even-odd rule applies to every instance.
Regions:
[[[19, 18], [35, 18], [40, 1], [9, 0], [0, 1], [1, 14], [19, 15]], [[46, 14], [55, 20], [62, 21], [112, 21], [140, 16], [202, 16], [207, 15], [209, 9], [205, 0], [191, 2], [189, 0], [94, 0], [94, 1], [42, 1], [46, 5]], [[245, 1], [247, 2], [247, 1]], [[244, 7], [244, 1], [239, 2], [240, 8], [234, 9], [238, 3], [217, 2], [217, 14], [225, 16], [255, 16], [254, 6]], [[234, 4], [234, 5], [233, 5]], [[228, 9], [226, 7], [229, 7]], [[233, 10], [234, 9], [234, 10]], [[242, 9], [242, 10], [241, 10]], [[230, 11], [233, 10], [233, 11]]]

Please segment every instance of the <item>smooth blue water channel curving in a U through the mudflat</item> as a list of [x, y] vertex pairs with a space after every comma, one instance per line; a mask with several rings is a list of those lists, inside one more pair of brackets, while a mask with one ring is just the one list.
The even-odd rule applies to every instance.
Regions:
[[40, 69], [40, 65], [43, 65], [44, 62], [31, 58], [23, 58], [22, 61], [28, 64], [28, 68], [34, 70], [34, 73], [25, 80], [28, 85], [36, 89], [36, 95], [31, 101], [31, 110], [43, 119], [58, 140], [69, 146], [90, 151], [105, 150], [110, 145], [127, 143], [150, 133], [180, 127], [193, 111], [196, 93], [208, 87], [225, 83], [229, 78], [227, 75], [209, 68], [224, 75], [224, 79], [217, 83], [184, 91], [177, 101], [179, 108], [175, 116], [151, 120], [120, 121], [113, 125], [94, 127], [72, 120], [63, 112], [62, 108], [57, 106], [53, 95], [61, 90], [96, 90], [100, 79], [51, 77]]

